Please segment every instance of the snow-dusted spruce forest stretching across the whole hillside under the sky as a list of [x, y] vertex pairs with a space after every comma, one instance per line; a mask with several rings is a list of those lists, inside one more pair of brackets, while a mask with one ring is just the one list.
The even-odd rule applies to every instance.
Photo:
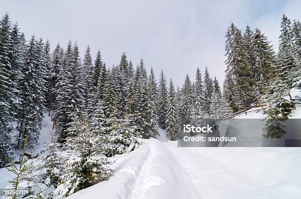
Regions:
[[[102, 167], [106, 157], [136, 149], [141, 138], [154, 137], [158, 127], [177, 140], [182, 124], [226, 119], [258, 101], [270, 104], [267, 118], [287, 119], [292, 104], [284, 97], [293, 87], [301, 89], [301, 24], [283, 15], [280, 30], [276, 53], [260, 29], [246, 26], [242, 32], [231, 24], [225, 35], [222, 89], [207, 67], [202, 73], [198, 66], [195, 76], [186, 75], [184, 84], [175, 87], [163, 70], [157, 80], [143, 59], [136, 65], [125, 52], [118, 65], [106, 66], [101, 51], [91, 55], [89, 45], [80, 57], [77, 42], [69, 41], [66, 47], [56, 44], [51, 50], [50, 40], [32, 36], [27, 41], [4, 14], [0, 19], [0, 167], [25, 144], [34, 147], [46, 111], [55, 135], [47, 148], [52, 160], [46, 162], [57, 162], [64, 175], [59, 178], [51, 169], [54, 164], [45, 163], [48, 169], [41, 178], [50, 175], [56, 194], [65, 196], [106, 179], [112, 172]], [[74, 156], [61, 160], [55, 155], [58, 148], [82, 161], [72, 161]], [[102, 156], [93, 159], [98, 152]], [[83, 163], [88, 159], [90, 166]], [[73, 168], [73, 173], [64, 168]], [[87, 178], [88, 171], [104, 175]], [[72, 181], [80, 175], [82, 181]], [[60, 191], [65, 189], [68, 192]]]

